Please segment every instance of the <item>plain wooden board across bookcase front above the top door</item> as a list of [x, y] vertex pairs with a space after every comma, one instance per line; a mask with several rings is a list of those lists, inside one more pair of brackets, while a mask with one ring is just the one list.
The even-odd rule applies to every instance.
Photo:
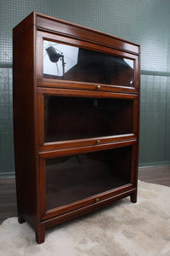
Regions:
[[79, 26], [47, 15], [37, 14], [37, 28], [45, 32], [56, 33], [57, 35], [80, 38], [82, 41], [105, 45], [106, 47], [113, 47], [114, 45], [115, 49], [133, 52], [136, 55], [139, 54], [138, 44], [133, 44], [122, 38], [112, 37], [103, 32], [94, 31], [88, 27]]

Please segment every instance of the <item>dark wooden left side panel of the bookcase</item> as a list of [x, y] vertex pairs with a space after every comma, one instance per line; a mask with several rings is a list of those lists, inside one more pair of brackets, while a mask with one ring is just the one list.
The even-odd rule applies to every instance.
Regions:
[[[36, 68], [32, 13], [13, 32], [14, 157], [18, 216], [37, 229]], [[29, 56], [29, 57], [28, 57]]]

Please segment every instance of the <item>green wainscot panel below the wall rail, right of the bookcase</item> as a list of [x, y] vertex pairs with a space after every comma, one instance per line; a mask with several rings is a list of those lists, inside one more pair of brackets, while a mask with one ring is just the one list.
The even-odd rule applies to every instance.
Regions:
[[141, 75], [140, 166], [170, 164], [170, 77]]

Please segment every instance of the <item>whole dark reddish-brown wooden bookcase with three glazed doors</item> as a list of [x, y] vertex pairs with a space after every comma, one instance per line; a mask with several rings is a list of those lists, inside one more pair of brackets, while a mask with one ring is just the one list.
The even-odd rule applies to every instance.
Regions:
[[47, 15], [14, 27], [18, 218], [45, 230], [137, 200], [139, 45]]

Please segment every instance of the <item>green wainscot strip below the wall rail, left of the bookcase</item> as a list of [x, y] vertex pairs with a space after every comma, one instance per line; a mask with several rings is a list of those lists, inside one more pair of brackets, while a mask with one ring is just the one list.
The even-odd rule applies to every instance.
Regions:
[[0, 68], [1, 176], [14, 176], [12, 68]]

